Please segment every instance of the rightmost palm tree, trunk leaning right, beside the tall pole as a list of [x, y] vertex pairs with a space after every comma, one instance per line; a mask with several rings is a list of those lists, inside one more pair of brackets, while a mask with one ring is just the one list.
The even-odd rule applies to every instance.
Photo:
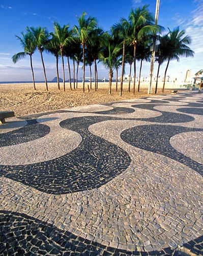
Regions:
[[164, 82], [163, 82], [163, 88], [162, 92], [164, 92], [164, 86], [165, 86], [165, 78], [166, 78], [166, 72], [168, 69], [168, 65], [170, 60], [177, 60], [179, 61], [179, 57], [193, 57], [194, 52], [190, 49], [188, 44], [191, 44], [191, 38], [189, 36], [185, 36], [185, 31], [179, 29], [179, 27], [173, 29], [172, 31], [168, 29], [168, 49], [169, 49], [169, 55], [168, 55], [168, 62], [166, 65], [165, 73], [164, 73]]

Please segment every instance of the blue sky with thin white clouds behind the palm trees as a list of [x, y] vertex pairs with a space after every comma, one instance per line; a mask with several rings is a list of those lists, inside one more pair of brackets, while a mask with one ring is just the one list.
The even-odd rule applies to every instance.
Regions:
[[[128, 17], [131, 8], [150, 4], [150, 11], [155, 12], [156, 0], [35, 0], [35, 1], [0, 1], [0, 81], [31, 81], [30, 62], [28, 58], [12, 63], [11, 57], [21, 52], [22, 48], [15, 35], [19, 35], [26, 26], [46, 27], [51, 32], [53, 22], [61, 24], [77, 24], [76, 15], [80, 16], [83, 11], [98, 19], [100, 27], [109, 30], [111, 25], [120, 17]], [[186, 73], [192, 69], [195, 73], [203, 68], [203, 0], [160, 0], [159, 24], [167, 29], [180, 25], [186, 33], [192, 37], [191, 48], [195, 51], [194, 58], [182, 59], [179, 63], [173, 61], [169, 65], [168, 74], [177, 76], [180, 72]], [[55, 59], [44, 53], [44, 61], [48, 80], [55, 76]], [[43, 71], [40, 55], [36, 52], [33, 56], [33, 65], [36, 80], [43, 80]], [[139, 65], [139, 63], [137, 63]], [[164, 65], [161, 74], [164, 72]], [[108, 76], [108, 71], [99, 64], [99, 77]], [[149, 75], [150, 64], [144, 63], [142, 75]], [[155, 65], [155, 72], [157, 65]], [[126, 67], [128, 73], [128, 66]], [[62, 77], [62, 72], [60, 72]], [[79, 77], [82, 76], [81, 67]], [[86, 75], [89, 76], [87, 69]], [[68, 72], [66, 72], [68, 79]]]

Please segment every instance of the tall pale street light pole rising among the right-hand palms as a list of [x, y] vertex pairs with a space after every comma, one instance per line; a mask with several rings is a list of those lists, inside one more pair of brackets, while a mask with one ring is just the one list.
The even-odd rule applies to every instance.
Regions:
[[[156, 13], [155, 13], [155, 25], [158, 24], [159, 4], [160, 4], [160, 0], [157, 0]], [[156, 52], [156, 39], [154, 39], [154, 42], [152, 45], [152, 56], [151, 56], [151, 65], [150, 65], [150, 84], [148, 87], [148, 94], [152, 93], [152, 79], [153, 79], [153, 72], [154, 72], [155, 52]]]

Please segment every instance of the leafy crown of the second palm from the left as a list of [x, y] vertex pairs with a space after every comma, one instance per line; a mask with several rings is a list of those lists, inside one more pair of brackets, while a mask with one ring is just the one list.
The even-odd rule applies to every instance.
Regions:
[[41, 27], [31, 27], [31, 28], [26, 28], [26, 31], [30, 33], [31, 37], [33, 38], [33, 41], [36, 45], [36, 47], [39, 50], [44, 49], [44, 45], [47, 43], [48, 38], [49, 38], [49, 33], [47, 32], [46, 28], [41, 28]]

